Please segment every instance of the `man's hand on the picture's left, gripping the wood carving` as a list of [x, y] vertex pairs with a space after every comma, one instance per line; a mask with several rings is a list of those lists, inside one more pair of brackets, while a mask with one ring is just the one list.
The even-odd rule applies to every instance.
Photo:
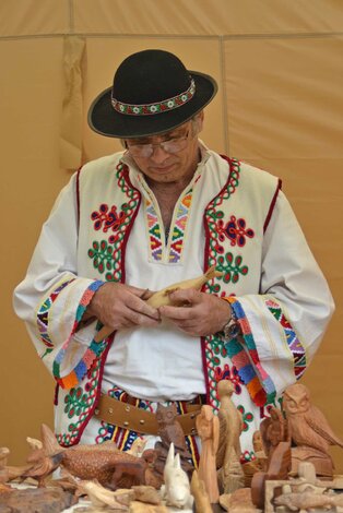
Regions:
[[[85, 312], [113, 331], [132, 326], [155, 326], [159, 313], [141, 299], [144, 289], [108, 282], [94, 294]], [[146, 299], [146, 298], [145, 298]]]

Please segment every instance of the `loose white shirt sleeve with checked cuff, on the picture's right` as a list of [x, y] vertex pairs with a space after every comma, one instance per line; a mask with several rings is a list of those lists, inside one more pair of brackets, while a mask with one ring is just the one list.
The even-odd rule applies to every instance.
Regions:
[[271, 403], [303, 375], [334, 310], [327, 281], [282, 191], [264, 234], [260, 294], [238, 297], [232, 306], [241, 335], [226, 343], [228, 355], [251, 385], [256, 404], [264, 404], [265, 395]]

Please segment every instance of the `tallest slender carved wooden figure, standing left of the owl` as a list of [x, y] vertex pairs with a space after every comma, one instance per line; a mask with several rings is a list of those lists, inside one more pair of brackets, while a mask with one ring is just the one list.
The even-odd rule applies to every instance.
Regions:
[[229, 380], [217, 384], [217, 395], [221, 399], [218, 411], [220, 442], [216, 453], [216, 468], [221, 493], [230, 493], [245, 486], [245, 476], [240, 465], [239, 437], [243, 430], [240, 411], [232, 401], [235, 389]]

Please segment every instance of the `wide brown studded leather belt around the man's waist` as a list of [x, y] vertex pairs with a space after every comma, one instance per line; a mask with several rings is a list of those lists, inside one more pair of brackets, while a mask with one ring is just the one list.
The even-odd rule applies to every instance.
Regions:
[[[201, 404], [187, 404], [187, 413], [176, 415], [175, 419], [180, 422], [186, 434], [197, 434], [196, 418], [200, 414]], [[108, 395], [102, 395], [94, 411], [97, 419], [104, 420], [113, 426], [130, 429], [143, 434], [158, 434], [156, 415], [146, 409], [137, 408], [131, 404], [123, 403]]]

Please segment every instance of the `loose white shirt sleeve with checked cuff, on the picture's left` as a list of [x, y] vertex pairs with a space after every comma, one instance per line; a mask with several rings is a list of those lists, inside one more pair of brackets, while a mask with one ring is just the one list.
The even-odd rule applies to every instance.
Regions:
[[104, 349], [96, 322], [79, 330], [103, 282], [78, 276], [76, 175], [62, 189], [45, 222], [26, 277], [13, 305], [46, 367], [66, 389], [79, 383]]

